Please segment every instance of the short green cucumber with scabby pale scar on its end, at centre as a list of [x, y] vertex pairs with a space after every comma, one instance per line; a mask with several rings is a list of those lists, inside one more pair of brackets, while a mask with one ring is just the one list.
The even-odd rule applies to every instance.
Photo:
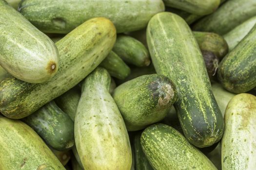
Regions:
[[138, 131], [164, 119], [177, 99], [174, 83], [159, 74], [143, 75], [125, 82], [112, 96], [128, 131]]

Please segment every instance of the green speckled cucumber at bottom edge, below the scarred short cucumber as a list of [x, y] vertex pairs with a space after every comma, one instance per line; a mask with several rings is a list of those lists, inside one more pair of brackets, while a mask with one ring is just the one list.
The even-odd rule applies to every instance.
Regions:
[[155, 170], [217, 170], [213, 163], [171, 126], [147, 127], [140, 143]]

